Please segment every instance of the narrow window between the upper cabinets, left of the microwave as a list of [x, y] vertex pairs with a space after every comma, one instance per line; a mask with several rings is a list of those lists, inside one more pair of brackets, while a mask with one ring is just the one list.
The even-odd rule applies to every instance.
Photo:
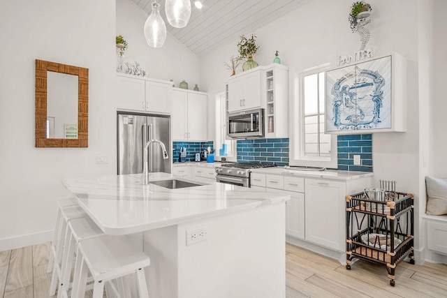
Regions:
[[220, 156], [219, 149], [222, 144], [226, 144], [228, 160], [236, 161], [236, 141], [226, 140], [226, 94], [223, 92], [216, 95], [216, 140], [214, 147], [216, 149], [216, 156]]

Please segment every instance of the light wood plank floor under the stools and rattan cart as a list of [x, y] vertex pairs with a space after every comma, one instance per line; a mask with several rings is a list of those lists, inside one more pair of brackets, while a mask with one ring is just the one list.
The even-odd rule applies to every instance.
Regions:
[[[49, 255], [50, 243], [0, 252], [0, 297], [48, 297]], [[346, 270], [336, 260], [286, 244], [286, 297], [447, 297], [447, 265], [401, 262], [391, 287], [385, 267], [359, 261]]]

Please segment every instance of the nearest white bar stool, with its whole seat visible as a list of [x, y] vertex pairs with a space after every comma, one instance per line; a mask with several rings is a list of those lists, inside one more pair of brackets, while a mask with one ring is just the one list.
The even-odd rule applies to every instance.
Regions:
[[140, 297], [148, 298], [145, 267], [150, 259], [135, 248], [125, 236], [97, 237], [81, 241], [78, 245], [73, 291], [71, 297], [85, 295], [87, 274], [94, 280], [93, 298], [102, 298], [104, 283], [136, 273]]

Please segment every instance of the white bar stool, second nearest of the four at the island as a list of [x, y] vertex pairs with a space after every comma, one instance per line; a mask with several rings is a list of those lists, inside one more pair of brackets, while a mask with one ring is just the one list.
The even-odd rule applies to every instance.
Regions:
[[103, 235], [103, 231], [87, 214], [68, 221], [68, 233], [65, 237], [64, 253], [61, 259], [61, 274], [59, 276], [57, 297], [67, 296], [67, 292], [71, 288], [70, 277], [71, 269], [73, 268], [73, 257], [80, 241]]

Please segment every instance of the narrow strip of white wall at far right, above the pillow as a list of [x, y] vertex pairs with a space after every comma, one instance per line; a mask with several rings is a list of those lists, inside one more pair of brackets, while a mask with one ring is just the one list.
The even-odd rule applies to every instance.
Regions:
[[447, 178], [447, 1], [434, 1], [434, 176]]

